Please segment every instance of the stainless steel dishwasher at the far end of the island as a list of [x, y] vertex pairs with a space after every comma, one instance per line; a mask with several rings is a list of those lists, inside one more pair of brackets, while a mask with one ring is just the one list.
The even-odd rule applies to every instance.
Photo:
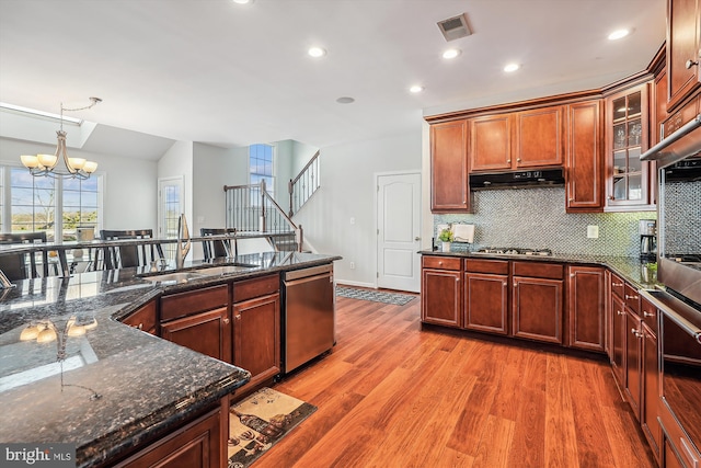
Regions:
[[333, 264], [285, 273], [283, 369], [287, 374], [335, 344]]

